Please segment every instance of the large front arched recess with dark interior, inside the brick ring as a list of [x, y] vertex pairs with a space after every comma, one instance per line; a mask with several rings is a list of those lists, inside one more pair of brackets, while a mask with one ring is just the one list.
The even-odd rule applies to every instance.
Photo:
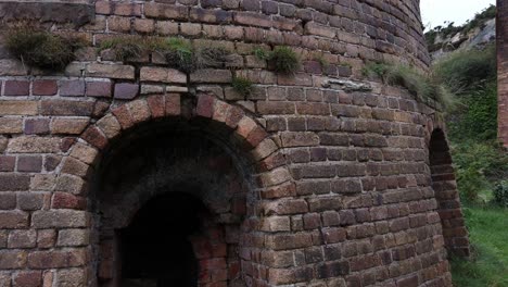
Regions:
[[256, 200], [249, 169], [193, 123], [129, 130], [106, 151], [90, 195], [98, 285], [244, 286], [241, 235]]

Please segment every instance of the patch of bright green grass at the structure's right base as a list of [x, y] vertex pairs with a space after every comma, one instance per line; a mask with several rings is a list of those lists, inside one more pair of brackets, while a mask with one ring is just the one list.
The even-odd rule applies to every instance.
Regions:
[[508, 286], [508, 209], [472, 205], [463, 211], [473, 253], [470, 260], [452, 260], [454, 286]]

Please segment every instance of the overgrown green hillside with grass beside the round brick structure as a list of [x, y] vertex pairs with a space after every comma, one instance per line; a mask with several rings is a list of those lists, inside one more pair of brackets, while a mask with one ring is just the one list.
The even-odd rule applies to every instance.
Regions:
[[[460, 33], [485, 23], [492, 13], [495, 8], [478, 14]], [[443, 29], [458, 33], [453, 25]], [[452, 261], [454, 285], [508, 286], [508, 155], [496, 139], [495, 46], [449, 52], [434, 63], [433, 75], [455, 95], [446, 121], [472, 247], [470, 260]]]

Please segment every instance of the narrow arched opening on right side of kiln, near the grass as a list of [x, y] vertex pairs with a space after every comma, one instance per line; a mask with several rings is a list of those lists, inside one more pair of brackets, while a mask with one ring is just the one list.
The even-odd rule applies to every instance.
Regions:
[[448, 253], [469, 255], [468, 230], [460, 208], [452, 154], [442, 129], [434, 129], [429, 145], [432, 188], [437, 201], [437, 212], [443, 226], [443, 237]]

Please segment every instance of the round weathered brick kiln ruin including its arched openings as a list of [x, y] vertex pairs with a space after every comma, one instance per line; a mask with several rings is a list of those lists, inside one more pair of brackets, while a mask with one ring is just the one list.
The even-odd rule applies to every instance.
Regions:
[[[0, 1], [4, 23], [88, 41], [64, 73], [0, 49], [0, 286], [452, 286], [447, 254], [469, 244], [443, 122], [361, 73], [427, 71], [419, 13], [419, 0]], [[233, 60], [185, 74], [97, 49], [127, 34]], [[297, 73], [253, 53], [276, 46], [300, 54]]]

